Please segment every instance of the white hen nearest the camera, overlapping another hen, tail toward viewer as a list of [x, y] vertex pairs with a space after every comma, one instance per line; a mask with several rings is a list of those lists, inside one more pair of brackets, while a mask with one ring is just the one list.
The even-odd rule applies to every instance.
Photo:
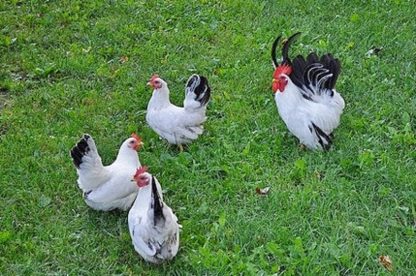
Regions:
[[178, 253], [178, 218], [163, 202], [159, 182], [145, 167], [137, 169], [133, 179], [140, 188], [128, 216], [134, 249], [146, 261], [160, 264]]

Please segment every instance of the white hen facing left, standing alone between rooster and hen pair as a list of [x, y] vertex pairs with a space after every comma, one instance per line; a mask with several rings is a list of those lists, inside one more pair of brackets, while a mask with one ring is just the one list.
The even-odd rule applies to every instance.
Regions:
[[208, 80], [192, 75], [185, 88], [184, 107], [171, 104], [167, 83], [153, 75], [147, 83], [153, 87], [153, 95], [147, 106], [146, 121], [150, 127], [170, 144], [188, 144], [202, 134], [206, 120], [205, 111], [211, 95]]

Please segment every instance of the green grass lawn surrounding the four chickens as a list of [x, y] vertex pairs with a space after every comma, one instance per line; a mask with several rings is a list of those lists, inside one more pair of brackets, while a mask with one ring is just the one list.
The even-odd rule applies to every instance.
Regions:
[[[374, 275], [389, 255], [414, 275], [414, 2], [364, 2], [2, 1], [0, 274]], [[299, 147], [270, 88], [271, 43], [296, 31], [293, 56], [342, 61], [326, 153]], [[177, 104], [192, 73], [210, 81], [185, 152], [145, 122], [154, 72]], [[126, 212], [86, 206], [69, 156], [86, 132], [108, 164], [133, 131], [183, 225], [162, 266], [134, 251]]]

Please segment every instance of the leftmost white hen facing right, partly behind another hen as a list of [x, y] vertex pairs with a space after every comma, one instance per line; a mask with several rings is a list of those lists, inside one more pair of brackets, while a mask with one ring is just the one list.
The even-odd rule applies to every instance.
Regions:
[[84, 134], [72, 148], [71, 156], [88, 206], [101, 211], [125, 211], [133, 204], [139, 189], [131, 182], [131, 176], [141, 166], [137, 150], [142, 144], [140, 137], [132, 134], [121, 145], [116, 161], [104, 167], [94, 140]]

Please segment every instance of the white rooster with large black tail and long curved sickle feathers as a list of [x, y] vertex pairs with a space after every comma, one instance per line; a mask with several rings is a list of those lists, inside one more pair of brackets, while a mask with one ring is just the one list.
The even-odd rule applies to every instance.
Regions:
[[332, 132], [338, 127], [345, 103], [335, 91], [340, 73], [340, 61], [331, 54], [318, 57], [310, 53], [306, 59], [298, 55], [293, 61], [288, 56], [290, 44], [300, 33], [283, 43], [282, 63], [276, 60], [276, 47], [272, 46], [272, 89], [280, 117], [289, 131], [310, 149], [329, 150]]

